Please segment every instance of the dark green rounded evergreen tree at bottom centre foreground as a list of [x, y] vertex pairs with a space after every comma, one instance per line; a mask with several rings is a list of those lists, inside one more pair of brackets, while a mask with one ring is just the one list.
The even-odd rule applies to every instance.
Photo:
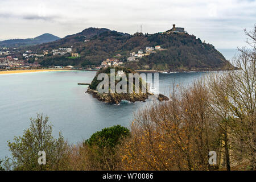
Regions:
[[87, 162], [91, 164], [90, 169], [112, 171], [121, 163], [117, 155], [117, 146], [129, 135], [130, 131], [120, 125], [102, 129], [85, 140], [80, 152], [87, 155]]

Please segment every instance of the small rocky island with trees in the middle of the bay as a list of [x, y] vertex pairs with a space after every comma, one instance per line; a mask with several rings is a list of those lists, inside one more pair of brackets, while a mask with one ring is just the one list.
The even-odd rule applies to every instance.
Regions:
[[[110, 85], [110, 77], [111, 77], [111, 69], [114, 70], [114, 76], [115, 77], [121, 77], [120, 80], [125, 82], [127, 84], [127, 92], [126, 93], [113, 93], [111, 92], [111, 85]], [[98, 91], [98, 85], [102, 82], [102, 80], [98, 80], [98, 76], [101, 73], [105, 73], [108, 76], [108, 91], [107, 93], [101, 93]], [[136, 72], [134, 72], [132, 69], [128, 69], [128, 68], [120, 68], [120, 67], [108, 67], [108, 68], [103, 68], [101, 69], [97, 75], [93, 78], [92, 83], [89, 85], [88, 90], [86, 91], [86, 93], [92, 94], [92, 96], [94, 98], [97, 98], [97, 100], [102, 101], [102, 102], [106, 102], [109, 104], [119, 104], [119, 102], [126, 100], [126, 101], [130, 101], [130, 102], [136, 102], [136, 101], [146, 101], [148, 98], [152, 97], [154, 98], [154, 93], [150, 92], [150, 90], [148, 89], [148, 86], [146, 86], [146, 88], [144, 87], [144, 90], [146, 90], [146, 92], [143, 92], [143, 83], [144, 80], [142, 80], [142, 78], [139, 78], [139, 92], [135, 92], [136, 88], [138, 85], [135, 84], [135, 81], [133, 83], [130, 83], [132, 85], [133, 88], [133, 92], [130, 93], [129, 92], [129, 79], [127, 79], [129, 77], [129, 73], [135, 74]], [[118, 82], [115, 79], [115, 86], [118, 85]], [[147, 84], [146, 84], [147, 85]], [[122, 88], [122, 86], [121, 86]], [[157, 98], [159, 101], [168, 101], [169, 98], [164, 96], [163, 94], [158, 94]]]

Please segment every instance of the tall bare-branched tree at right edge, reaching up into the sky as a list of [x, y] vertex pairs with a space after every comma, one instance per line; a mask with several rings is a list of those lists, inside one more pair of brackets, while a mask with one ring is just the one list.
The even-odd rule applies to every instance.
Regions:
[[245, 30], [245, 34], [249, 48], [238, 48], [240, 54], [233, 60], [239, 70], [210, 76], [208, 86], [212, 113], [220, 121], [218, 125], [225, 131], [232, 153], [240, 163], [248, 160], [255, 170], [256, 25], [254, 31]]

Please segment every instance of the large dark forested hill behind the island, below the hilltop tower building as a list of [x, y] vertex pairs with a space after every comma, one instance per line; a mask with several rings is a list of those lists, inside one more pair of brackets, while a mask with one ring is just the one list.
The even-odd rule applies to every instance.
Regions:
[[[202, 43], [196, 36], [187, 33], [129, 35], [106, 28], [87, 28], [78, 34], [66, 36], [55, 42], [29, 48], [42, 53], [47, 49], [51, 51], [51, 49], [71, 46], [72, 52], [79, 53], [79, 57], [74, 59], [68, 54], [53, 56], [50, 53], [39, 60], [40, 64], [90, 67], [90, 65], [99, 66], [103, 60], [115, 57], [123, 60], [126, 67], [133, 69], [202, 71], [225, 69], [230, 65], [214, 46]], [[139, 49], [144, 51], [146, 47], [155, 46], [161, 46], [166, 50], [144, 56], [138, 62], [126, 63], [130, 52], [138, 52]]]

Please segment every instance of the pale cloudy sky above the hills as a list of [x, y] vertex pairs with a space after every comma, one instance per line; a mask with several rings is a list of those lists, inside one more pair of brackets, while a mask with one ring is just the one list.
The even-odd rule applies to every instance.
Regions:
[[0, 40], [60, 38], [88, 27], [134, 34], [184, 27], [216, 48], [245, 46], [243, 29], [253, 30], [256, 0], [0, 0]]

